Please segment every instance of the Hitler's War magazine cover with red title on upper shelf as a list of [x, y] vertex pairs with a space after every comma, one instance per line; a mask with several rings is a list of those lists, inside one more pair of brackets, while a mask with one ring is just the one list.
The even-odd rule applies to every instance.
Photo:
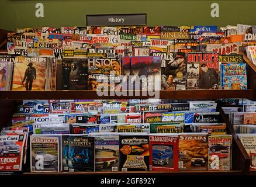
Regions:
[[187, 89], [219, 89], [219, 58], [217, 53], [188, 53]]

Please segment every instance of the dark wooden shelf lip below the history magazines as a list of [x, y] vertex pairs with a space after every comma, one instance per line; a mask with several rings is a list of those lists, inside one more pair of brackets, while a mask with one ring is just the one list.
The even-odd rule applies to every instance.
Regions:
[[[139, 95], [116, 95], [115, 92], [108, 95], [98, 95], [96, 91], [0, 91], [0, 99], [19, 100], [19, 99], [221, 99], [221, 98], [247, 98], [253, 99], [253, 89], [230, 89], [212, 90], [195, 89], [181, 91], [140, 91]], [[155, 97], [159, 95], [159, 97]]]

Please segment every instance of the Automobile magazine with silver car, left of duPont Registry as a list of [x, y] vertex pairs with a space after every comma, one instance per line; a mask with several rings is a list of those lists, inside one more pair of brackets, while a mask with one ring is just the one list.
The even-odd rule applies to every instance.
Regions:
[[30, 136], [31, 172], [60, 171], [60, 139], [57, 136]]

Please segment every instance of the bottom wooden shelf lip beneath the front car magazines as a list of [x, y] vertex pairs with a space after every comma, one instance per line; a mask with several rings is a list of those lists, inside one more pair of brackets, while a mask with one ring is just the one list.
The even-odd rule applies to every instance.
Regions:
[[[241, 170], [231, 171], [127, 171], [127, 172], [24, 172], [23, 175], [242, 175]], [[256, 173], [255, 173], [256, 174]]]

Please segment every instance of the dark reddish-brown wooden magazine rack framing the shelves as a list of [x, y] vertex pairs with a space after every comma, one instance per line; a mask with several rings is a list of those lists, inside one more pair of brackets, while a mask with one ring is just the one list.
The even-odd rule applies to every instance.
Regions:
[[[241, 53], [243, 54], [243, 53]], [[244, 61], [248, 65], [248, 89], [244, 90], [185, 90], [185, 91], [160, 91], [160, 99], [219, 99], [219, 98], [247, 98], [255, 99], [256, 96], [256, 67], [243, 54]], [[119, 99], [148, 99], [150, 95], [118, 96]], [[115, 94], [99, 96], [96, 91], [1, 91], [0, 92], [0, 127], [11, 125], [12, 114], [16, 113], [16, 106], [22, 104], [22, 99], [116, 99]], [[229, 123], [228, 117], [220, 108], [223, 122], [227, 124], [227, 132], [233, 135], [233, 169], [231, 171], [178, 171], [178, 172], [26, 172], [23, 175], [256, 175], [249, 172], [250, 157], [246, 153], [243, 144]], [[28, 162], [29, 163], [29, 162]]]

